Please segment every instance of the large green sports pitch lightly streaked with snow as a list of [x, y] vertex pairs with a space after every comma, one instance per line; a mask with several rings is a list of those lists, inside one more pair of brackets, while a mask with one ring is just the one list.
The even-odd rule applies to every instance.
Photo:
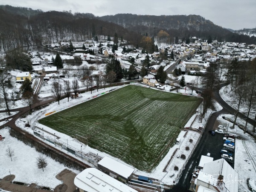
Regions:
[[200, 102], [195, 97], [126, 86], [39, 122], [150, 172], [174, 145], [180, 127]]

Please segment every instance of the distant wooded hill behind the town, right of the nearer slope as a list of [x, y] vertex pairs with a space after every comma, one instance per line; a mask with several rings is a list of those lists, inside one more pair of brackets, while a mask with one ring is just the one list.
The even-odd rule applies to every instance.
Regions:
[[117, 14], [99, 18], [119, 24], [142, 35], [147, 33], [149, 36], [156, 36], [160, 30], [164, 30], [169, 34], [171, 42], [174, 42], [176, 37], [186, 39], [193, 36], [206, 40], [211, 36], [213, 40], [218, 41], [244, 42], [249, 44], [256, 42], [255, 37], [250, 38], [247, 35], [232, 33], [200, 15], [155, 16]]

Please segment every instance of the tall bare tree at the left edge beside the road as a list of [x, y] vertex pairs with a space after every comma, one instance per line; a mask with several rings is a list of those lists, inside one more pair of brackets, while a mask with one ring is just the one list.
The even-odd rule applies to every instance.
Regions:
[[8, 76], [4, 70], [0, 69], [0, 95], [3, 97], [6, 110], [8, 115], [11, 115], [8, 105], [8, 91], [13, 87], [12, 85], [12, 77]]

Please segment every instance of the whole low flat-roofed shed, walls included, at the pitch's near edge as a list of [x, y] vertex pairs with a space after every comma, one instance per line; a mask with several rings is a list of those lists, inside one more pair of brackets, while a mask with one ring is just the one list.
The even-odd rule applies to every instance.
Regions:
[[104, 157], [99, 161], [98, 167], [107, 172], [111, 177], [114, 177], [122, 182], [128, 183], [132, 177], [134, 169], [128, 167], [109, 157]]

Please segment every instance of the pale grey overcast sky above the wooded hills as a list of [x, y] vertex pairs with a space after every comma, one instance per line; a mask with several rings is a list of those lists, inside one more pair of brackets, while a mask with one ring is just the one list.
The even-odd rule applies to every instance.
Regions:
[[216, 25], [243, 29], [256, 27], [256, 0], [0, 0], [0, 5], [43, 11], [92, 13], [96, 16], [132, 13], [138, 15], [201, 15]]

